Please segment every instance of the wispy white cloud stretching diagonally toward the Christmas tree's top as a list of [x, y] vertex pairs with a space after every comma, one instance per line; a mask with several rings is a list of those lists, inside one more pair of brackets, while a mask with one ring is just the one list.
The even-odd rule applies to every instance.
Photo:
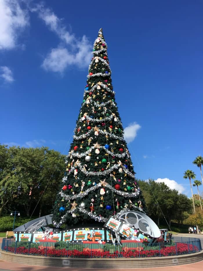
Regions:
[[62, 19], [59, 19], [52, 10], [45, 8], [42, 4], [35, 6], [31, 11], [37, 12], [39, 18], [60, 39], [59, 46], [50, 50], [41, 65], [45, 70], [62, 73], [70, 65], [80, 68], [88, 66], [92, 46], [85, 35], [81, 39], [77, 39], [63, 26]]

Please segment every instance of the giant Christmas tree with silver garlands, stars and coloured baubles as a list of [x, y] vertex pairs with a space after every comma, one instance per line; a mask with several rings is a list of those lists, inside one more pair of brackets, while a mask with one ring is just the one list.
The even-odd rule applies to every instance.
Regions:
[[53, 223], [99, 221], [124, 210], [142, 211], [142, 196], [111, 84], [102, 29], [94, 42], [84, 100], [66, 172], [53, 211]]

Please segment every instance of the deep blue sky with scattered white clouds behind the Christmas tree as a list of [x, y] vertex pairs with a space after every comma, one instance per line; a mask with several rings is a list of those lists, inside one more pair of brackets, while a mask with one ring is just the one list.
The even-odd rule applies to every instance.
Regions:
[[184, 171], [201, 180], [192, 161], [203, 156], [202, 10], [198, 0], [0, 0], [0, 142], [68, 153], [102, 27], [136, 176], [190, 196]]

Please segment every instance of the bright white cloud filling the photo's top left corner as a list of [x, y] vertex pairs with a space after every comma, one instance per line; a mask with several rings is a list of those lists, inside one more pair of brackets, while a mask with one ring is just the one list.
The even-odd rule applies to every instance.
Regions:
[[13, 49], [22, 30], [29, 24], [28, 12], [20, 0], [0, 0], [0, 50]]

